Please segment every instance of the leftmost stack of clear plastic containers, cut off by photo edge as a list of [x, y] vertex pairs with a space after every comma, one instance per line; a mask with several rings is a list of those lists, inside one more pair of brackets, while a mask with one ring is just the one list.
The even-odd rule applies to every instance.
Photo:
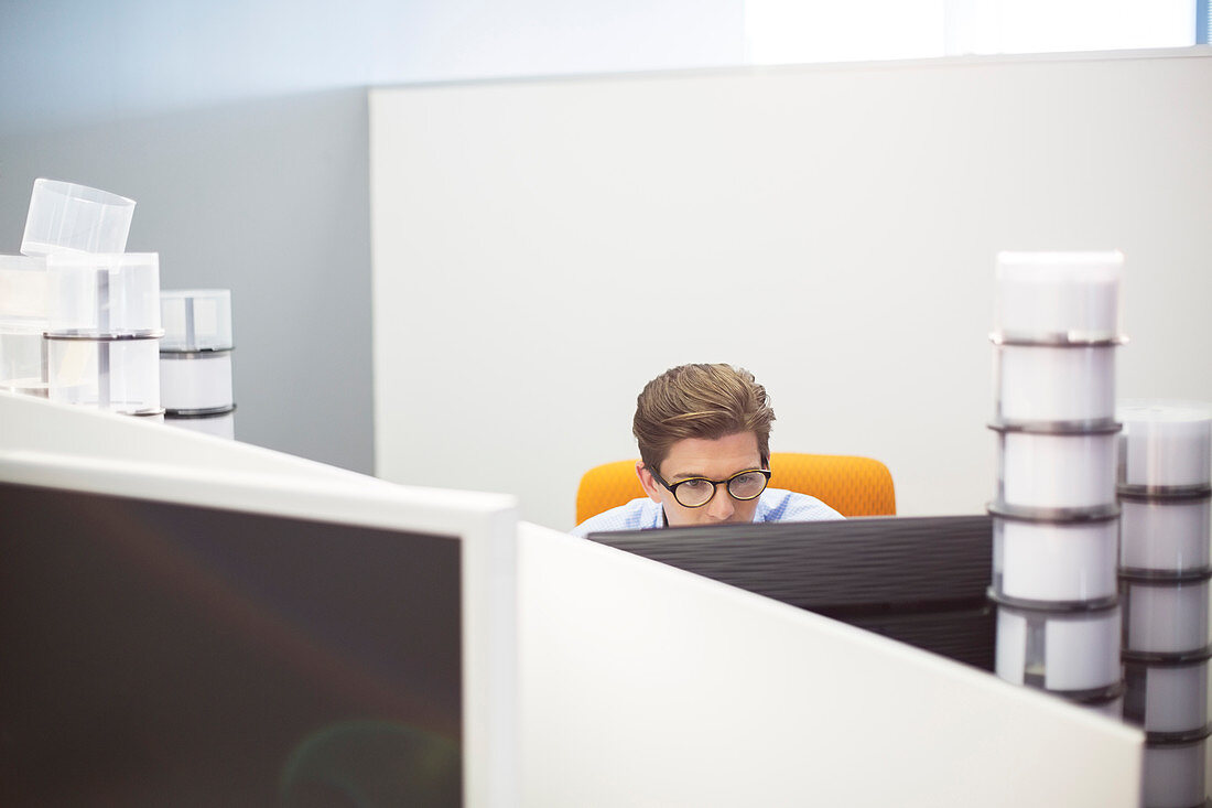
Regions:
[[46, 396], [46, 261], [0, 255], [0, 389]]

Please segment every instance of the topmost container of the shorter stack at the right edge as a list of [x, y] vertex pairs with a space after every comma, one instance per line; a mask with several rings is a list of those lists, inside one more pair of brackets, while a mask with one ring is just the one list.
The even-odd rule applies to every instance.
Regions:
[[1149, 489], [1212, 484], [1212, 408], [1202, 403], [1124, 402], [1120, 482]]

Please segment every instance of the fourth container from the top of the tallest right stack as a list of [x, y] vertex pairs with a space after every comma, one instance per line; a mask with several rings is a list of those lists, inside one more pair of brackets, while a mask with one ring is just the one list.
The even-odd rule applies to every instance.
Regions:
[[1117, 590], [1119, 524], [1051, 523], [994, 516], [993, 585], [1027, 601], [1100, 601]]

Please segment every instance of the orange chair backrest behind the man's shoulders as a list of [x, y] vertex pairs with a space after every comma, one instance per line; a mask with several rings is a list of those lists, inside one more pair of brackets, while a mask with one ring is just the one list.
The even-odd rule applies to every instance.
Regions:
[[[774, 451], [770, 456], [771, 488], [785, 488], [817, 497], [846, 517], [894, 516], [892, 474], [870, 457], [805, 455]], [[635, 476], [634, 460], [595, 466], [577, 489], [577, 524], [591, 516], [646, 496]]]

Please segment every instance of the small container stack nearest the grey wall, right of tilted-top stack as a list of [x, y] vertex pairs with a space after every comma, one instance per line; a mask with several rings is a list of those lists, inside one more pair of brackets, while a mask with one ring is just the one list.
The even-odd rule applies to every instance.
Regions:
[[160, 345], [165, 422], [234, 438], [230, 290], [165, 290], [160, 292], [160, 309], [165, 328]]

